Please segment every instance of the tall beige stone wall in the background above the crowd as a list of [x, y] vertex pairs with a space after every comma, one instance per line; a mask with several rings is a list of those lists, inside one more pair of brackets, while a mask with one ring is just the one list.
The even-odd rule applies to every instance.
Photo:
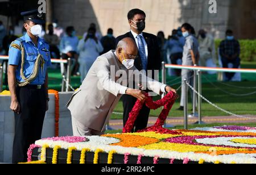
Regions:
[[206, 28], [217, 38], [224, 37], [228, 26], [230, 0], [217, 0], [217, 14], [209, 14], [207, 0], [56, 0], [55, 18], [62, 26], [73, 25], [81, 35], [89, 23], [97, 23], [103, 35], [109, 27], [118, 36], [129, 31], [127, 12], [139, 8], [146, 12], [146, 32], [157, 34], [172, 29], [184, 22], [192, 23], [196, 30]]

